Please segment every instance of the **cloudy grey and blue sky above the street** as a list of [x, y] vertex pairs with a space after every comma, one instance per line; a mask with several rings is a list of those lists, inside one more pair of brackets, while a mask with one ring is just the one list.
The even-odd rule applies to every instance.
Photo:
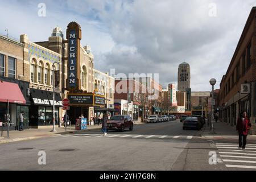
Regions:
[[[102, 72], [159, 73], [164, 87], [177, 83], [177, 68], [191, 66], [192, 91], [209, 91], [220, 81], [249, 16], [253, 0], [0, 0], [0, 34], [28, 34], [46, 41], [52, 29], [76, 21], [82, 45], [92, 47]], [[39, 3], [46, 5], [46, 16]], [[42, 15], [42, 14], [41, 14]]]

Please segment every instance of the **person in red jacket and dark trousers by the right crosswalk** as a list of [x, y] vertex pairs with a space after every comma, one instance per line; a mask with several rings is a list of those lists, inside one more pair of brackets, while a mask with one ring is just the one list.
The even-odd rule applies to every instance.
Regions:
[[247, 113], [240, 114], [240, 118], [237, 119], [237, 133], [239, 134], [239, 147], [238, 150], [245, 150], [246, 138], [251, 128], [250, 119], [247, 118]]

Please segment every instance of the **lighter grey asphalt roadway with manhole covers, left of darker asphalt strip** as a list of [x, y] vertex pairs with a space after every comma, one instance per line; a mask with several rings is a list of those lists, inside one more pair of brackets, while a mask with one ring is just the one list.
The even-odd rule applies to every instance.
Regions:
[[[124, 133], [109, 131], [108, 137], [97, 129], [1, 144], [0, 170], [166, 171], [198, 133], [170, 121], [136, 125]], [[46, 152], [46, 165], [39, 165], [39, 151]]]

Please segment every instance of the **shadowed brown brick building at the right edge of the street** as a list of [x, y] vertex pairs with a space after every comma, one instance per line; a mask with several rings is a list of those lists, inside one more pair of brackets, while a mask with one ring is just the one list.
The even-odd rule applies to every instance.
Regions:
[[[249, 18], [230, 61], [226, 74], [220, 83], [218, 93], [219, 119], [231, 126], [236, 125], [241, 111], [249, 114], [252, 123], [256, 117], [256, 7], [251, 9]], [[241, 89], [244, 86], [246, 90]]]

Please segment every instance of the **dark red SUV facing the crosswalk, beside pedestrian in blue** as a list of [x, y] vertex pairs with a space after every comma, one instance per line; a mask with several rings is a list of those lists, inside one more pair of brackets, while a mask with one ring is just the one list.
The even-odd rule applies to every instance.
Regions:
[[133, 130], [133, 120], [129, 115], [113, 115], [107, 122], [107, 130]]

